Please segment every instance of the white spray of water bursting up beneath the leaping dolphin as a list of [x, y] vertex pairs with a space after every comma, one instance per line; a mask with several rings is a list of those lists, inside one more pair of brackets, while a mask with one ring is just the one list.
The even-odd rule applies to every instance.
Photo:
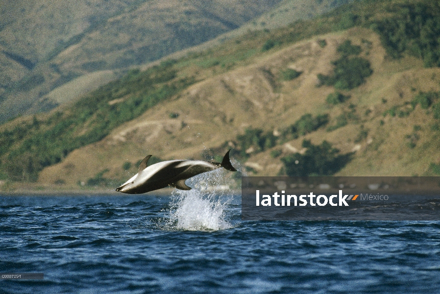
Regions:
[[233, 227], [228, 220], [233, 180], [224, 169], [201, 173], [186, 180], [192, 190], [173, 190], [166, 214], [169, 219], [161, 225], [166, 230], [224, 230]]

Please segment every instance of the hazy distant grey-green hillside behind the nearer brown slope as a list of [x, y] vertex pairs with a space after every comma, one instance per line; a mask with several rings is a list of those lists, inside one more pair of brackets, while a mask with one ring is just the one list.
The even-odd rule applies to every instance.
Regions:
[[[47, 111], [72, 95], [52, 99], [51, 91], [93, 72], [121, 77], [129, 67], [201, 44], [218, 45], [221, 35], [285, 25], [348, 0], [250, 1], [83, 1], [32, 0], [0, 4], [0, 122]], [[273, 10], [272, 9], [276, 9]], [[255, 17], [263, 14], [264, 21]], [[257, 23], [258, 21], [258, 23]], [[248, 25], [240, 28], [248, 22]], [[35, 36], [38, 36], [36, 38]], [[83, 93], [81, 83], [75, 82]], [[60, 91], [58, 91], [60, 92]], [[53, 94], [53, 93], [52, 93]], [[62, 94], [61, 94], [62, 95]], [[49, 102], [49, 103], [48, 103]]]

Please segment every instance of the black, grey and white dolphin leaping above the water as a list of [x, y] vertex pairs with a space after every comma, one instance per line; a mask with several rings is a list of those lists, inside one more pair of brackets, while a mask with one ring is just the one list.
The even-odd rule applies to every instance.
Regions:
[[148, 159], [151, 155], [147, 155], [139, 166], [139, 172], [116, 191], [126, 194], [142, 194], [168, 186], [180, 190], [191, 190], [185, 184], [185, 180], [199, 173], [219, 168], [237, 171], [229, 160], [229, 151], [231, 150], [226, 152], [221, 163], [203, 160], [168, 160], [148, 166]]

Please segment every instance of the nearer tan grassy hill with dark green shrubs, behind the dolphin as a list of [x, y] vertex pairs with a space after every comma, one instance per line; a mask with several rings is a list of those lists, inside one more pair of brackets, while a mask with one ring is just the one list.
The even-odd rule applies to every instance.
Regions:
[[133, 70], [0, 126], [1, 177], [112, 187], [147, 154], [231, 147], [249, 174], [437, 174], [439, 44], [427, 36], [439, 12], [430, 1], [354, 2]]

